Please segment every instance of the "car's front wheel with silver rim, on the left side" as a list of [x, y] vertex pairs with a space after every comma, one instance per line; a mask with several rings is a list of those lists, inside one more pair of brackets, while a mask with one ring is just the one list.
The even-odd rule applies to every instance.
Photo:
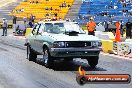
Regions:
[[45, 67], [51, 68], [53, 66], [53, 58], [50, 56], [49, 49], [47, 47], [43, 50], [43, 61]]

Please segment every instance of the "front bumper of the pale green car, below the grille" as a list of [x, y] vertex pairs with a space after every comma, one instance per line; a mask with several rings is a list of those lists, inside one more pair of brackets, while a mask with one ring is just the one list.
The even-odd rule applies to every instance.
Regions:
[[51, 48], [50, 55], [53, 57], [82, 58], [88, 56], [99, 56], [101, 48]]

